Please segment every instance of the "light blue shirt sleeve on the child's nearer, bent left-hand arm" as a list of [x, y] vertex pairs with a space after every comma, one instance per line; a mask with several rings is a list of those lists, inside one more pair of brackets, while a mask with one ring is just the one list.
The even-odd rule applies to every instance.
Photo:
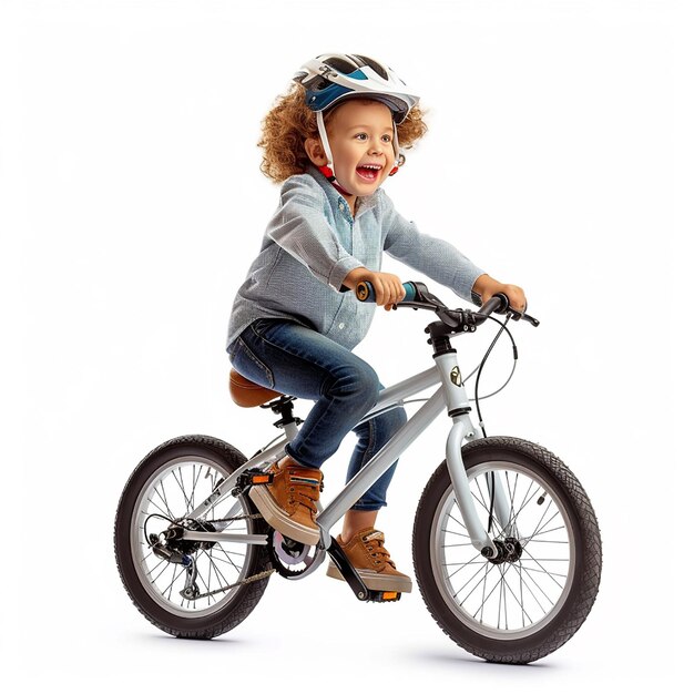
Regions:
[[320, 282], [339, 292], [361, 263], [343, 247], [324, 212], [324, 193], [300, 176], [287, 178], [267, 235]]

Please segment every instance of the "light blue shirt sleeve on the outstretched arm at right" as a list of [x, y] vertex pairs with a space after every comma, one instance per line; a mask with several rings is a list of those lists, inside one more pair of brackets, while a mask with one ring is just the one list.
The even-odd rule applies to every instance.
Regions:
[[382, 201], [386, 253], [472, 302], [472, 286], [484, 271], [447, 241], [422, 234], [395, 210], [385, 193]]

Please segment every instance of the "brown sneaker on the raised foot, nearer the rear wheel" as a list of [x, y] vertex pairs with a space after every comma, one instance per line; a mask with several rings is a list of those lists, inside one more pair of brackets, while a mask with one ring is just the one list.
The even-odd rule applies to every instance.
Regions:
[[316, 468], [273, 465], [271, 484], [251, 488], [248, 496], [263, 518], [283, 535], [303, 542], [318, 544], [320, 530], [316, 524], [317, 502], [323, 489], [323, 472]]

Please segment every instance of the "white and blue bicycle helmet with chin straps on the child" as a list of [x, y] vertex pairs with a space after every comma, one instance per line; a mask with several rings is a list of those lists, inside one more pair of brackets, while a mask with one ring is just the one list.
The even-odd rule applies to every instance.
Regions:
[[316, 112], [320, 142], [328, 160], [327, 166], [322, 166], [320, 171], [341, 193], [346, 191], [339, 186], [333, 173], [333, 153], [323, 114], [348, 99], [372, 99], [390, 109], [396, 161], [390, 175], [398, 171], [405, 157], [400, 154], [397, 125], [407, 118], [419, 96], [412, 94], [390, 68], [366, 55], [326, 53], [302, 65], [294, 81], [306, 89], [306, 105]]

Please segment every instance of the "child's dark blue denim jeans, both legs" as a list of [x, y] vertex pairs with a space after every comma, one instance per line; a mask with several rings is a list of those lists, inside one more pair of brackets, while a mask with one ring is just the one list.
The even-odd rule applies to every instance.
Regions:
[[[350, 480], [407, 421], [399, 407], [356, 426], [382, 389], [376, 371], [345, 347], [297, 323], [256, 320], [232, 343], [229, 358], [252, 381], [316, 402], [286, 447], [287, 455], [303, 466], [319, 468], [354, 431], [358, 440], [347, 470]], [[395, 467], [353, 508], [375, 511], [386, 506]]]

